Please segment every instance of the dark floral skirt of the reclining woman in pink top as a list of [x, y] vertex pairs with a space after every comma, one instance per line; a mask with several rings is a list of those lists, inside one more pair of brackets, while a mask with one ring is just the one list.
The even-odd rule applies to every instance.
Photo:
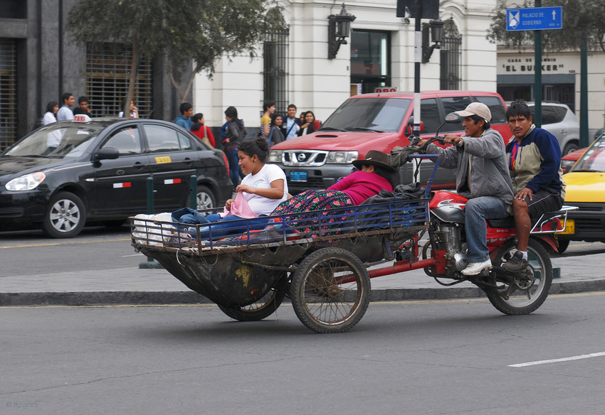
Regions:
[[[346, 209], [347, 206], [352, 206], [353, 200], [347, 193], [339, 190], [306, 190], [305, 192], [295, 195], [289, 200], [280, 203], [271, 215], [287, 215], [284, 217], [286, 222], [292, 223], [298, 232], [305, 232], [305, 237], [315, 238], [319, 235], [317, 219], [322, 217], [322, 231], [328, 232], [330, 235], [335, 235], [334, 232], [340, 223], [353, 214], [352, 209]], [[327, 210], [333, 208], [343, 208], [342, 210], [332, 210], [322, 213], [310, 213], [305, 215], [305, 212], [315, 210]], [[290, 215], [295, 214], [295, 215]], [[325, 220], [323, 219], [325, 217]]]

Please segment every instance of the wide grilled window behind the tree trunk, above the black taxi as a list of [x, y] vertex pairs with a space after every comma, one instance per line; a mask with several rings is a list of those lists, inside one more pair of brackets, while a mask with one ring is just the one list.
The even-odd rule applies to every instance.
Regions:
[[[86, 47], [86, 95], [93, 117], [117, 117], [128, 94], [132, 51], [112, 43], [88, 43]], [[152, 113], [152, 63], [142, 58], [135, 84], [139, 117]]]

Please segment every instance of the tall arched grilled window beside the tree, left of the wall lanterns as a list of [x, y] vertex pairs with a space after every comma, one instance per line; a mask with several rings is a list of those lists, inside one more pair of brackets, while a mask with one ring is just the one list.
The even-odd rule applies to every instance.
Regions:
[[267, 33], [263, 42], [263, 99], [275, 101], [276, 112], [285, 114], [290, 104], [288, 91], [288, 36], [290, 28]]

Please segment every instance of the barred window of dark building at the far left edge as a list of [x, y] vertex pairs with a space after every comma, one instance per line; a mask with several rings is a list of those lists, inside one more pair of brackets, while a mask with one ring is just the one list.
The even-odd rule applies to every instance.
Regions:
[[0, 39], [0, 152], [17, 138], [16, 41]]

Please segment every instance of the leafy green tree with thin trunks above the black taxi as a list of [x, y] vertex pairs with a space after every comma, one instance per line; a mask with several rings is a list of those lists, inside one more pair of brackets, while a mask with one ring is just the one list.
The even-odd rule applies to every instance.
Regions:
[[[68, 28], [80, 43], [132, 47], [128, 103], [134, 95], [140, 58], [158, 54], [166, 57], [182, 102], [197, 72], [211, 74], [223, 55], [254, 55], [264, 33], [283, 27], [281, 14], [275, 10], [267, 0], [82, 0], [69, 12]], [[193, 75], [181, 91], [177, 80], [192, 59]], [[128, 104], [124, 112], [128, 117]]]

